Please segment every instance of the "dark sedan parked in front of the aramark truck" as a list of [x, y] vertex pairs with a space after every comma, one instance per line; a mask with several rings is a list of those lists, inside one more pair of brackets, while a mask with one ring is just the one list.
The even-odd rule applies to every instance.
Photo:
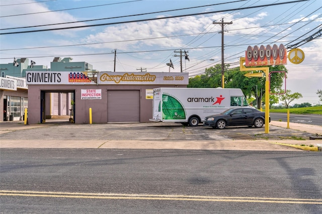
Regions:
[[[271, 118], [269, 119], [271, 122]], [[255, 126], [262, 128], [265, 124], [265, 112], [254, 108], [232, 108], [218, 115], [211, 115], [205, 118], [203, 125], [217, 129], [224, 129], [227, 126]]]

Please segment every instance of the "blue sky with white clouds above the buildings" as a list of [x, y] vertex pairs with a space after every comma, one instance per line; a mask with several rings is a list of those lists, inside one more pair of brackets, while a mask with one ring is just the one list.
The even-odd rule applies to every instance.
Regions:
[[[224, 26], [230, 67], [239, 66], [248, 46], [287, 47], [316, 37], [300, 43], [302, 63], [285, 65], [286, 87], [303, 95], [292, 103], [322, 103], [316, 94], [322, 89], [322, 32], [315, 34], [322, 29], [322, 1], [294, 1], [1, 0], [0, 63], [27, 57], [50, 68], [54, 57], [72, 57], [113, 71], [116, 50], [116, 71], [169, 72], [171, 60], [170, 72], [180, 72], [178, 52], [186, 50], [190, 61], [183, 58], [183, 72], [195, 76], [221, 63], [221, 27], [213, 22], [224, 19], [232, 22]], [[69, 27], [79, 28], [17, 33]]]

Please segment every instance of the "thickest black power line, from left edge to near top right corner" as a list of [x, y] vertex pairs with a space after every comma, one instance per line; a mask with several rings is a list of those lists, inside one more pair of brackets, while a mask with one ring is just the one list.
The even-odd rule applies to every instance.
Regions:
[[271, 4], [271, 5], [260, 5], [260, 6], [246, 7], [246, 8], [237, 8], [237, 9], [227, 9], [227, 10], [212, 11], [212, 12], [185, 14], [185, 15], [178, 15], [178, 16], [171, 16], [171, 17], [158, 17], [158, 18], [152, 18], [152, 19], [131, 20], [131, 21], [123, 21], [123, 22], [103, 23], [103, 24], [86, 25], [86, 26], [74, 26], [74, 27], [65, 27], [65, 28], [53, 28], [53, 29], [42, 29], [42, 30], [32, 30], [32, 31], [17, 31], [17, 32], [9, 32], [9, 33], [0, 33], [0, 35], [21, 34], [21, 33], [35, 33], [35, 32], [44, 32], [44, 31], [76, 29], [76, 28], [88, 28], [88, 27], [98, 27], [98, 26], [106, 26], [106, 25], [127, 24], [127, 23], [133, 23], [133, 22], [147, 22], [147, 21], [154, 21], [154, 20], [163, 20], [163, 19], [173, 19], [173, 18], [179, 18], [179, 17], [187, 17], [187, 16], [197, 16], [197, 15], [205, 15], [205, 14], [213, 14], [213, 13], [222, 13], [222, 12], [235, 11], [235, 10], [246, 10], [246, 9], [253, 9], [253, 8], [285, 5], [285, 4], [292, 4], [292, 3], [298, 3], [298, 2], [306, 2], [306, 1], [309, 1], [309, 0], [297, 0], [297, 1], [292, 1], [292, 2], [276, 3], [276, 4]]

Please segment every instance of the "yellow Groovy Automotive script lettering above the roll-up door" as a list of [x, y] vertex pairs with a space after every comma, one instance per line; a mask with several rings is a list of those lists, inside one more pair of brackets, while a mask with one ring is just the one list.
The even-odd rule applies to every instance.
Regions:
[[115, 83], [120, 83], [121, 81], [153, 82], [155, 78], [155, 75], [150, 75], [149, 73], [144, 75], [135, 75], [133, 73], [125, 73], [123, 75], [108, 75], [107, 73], [103, 73], [100, 77], [101, 81], [114, 81]]

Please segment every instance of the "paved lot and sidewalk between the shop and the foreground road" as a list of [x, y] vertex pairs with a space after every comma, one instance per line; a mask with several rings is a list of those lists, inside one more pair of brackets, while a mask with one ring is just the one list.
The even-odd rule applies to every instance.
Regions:
[[[121, 148], [121, 149], [220, 149], [220, 150], [297, 150], [272, 143], [305, 144], [311, 133], [306, 126], [271, 122], [265, 129], [227, 127], [186, 127], [176, 123], [70, 124], [46, 121], [24, 125], [20, 122], [0, 123], [0, 148]], [[294, 129], [292, 129], [292, 127]], [[300, 128], [300, 129], [299, 129]], [[322, 133], [322, 127], [307, 129]]]

